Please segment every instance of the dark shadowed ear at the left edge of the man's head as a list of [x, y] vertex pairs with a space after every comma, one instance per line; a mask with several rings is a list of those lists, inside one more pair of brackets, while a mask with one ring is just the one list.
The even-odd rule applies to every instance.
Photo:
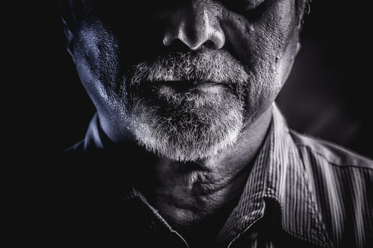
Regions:
[[68, 53], [74, 59], [74, 27], [75, 17], [73, 14], [73, 6], [70, 0], [59, 0], [59, 8], [61, 10], [61, 21], [64, 28], [64, 32], [67, 39], [67, 50]]

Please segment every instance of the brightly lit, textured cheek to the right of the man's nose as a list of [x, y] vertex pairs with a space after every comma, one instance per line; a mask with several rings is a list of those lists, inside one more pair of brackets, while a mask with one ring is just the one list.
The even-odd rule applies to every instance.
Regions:
[[222, 22], [227, 50], [251, 75], [246, 99], [249, 116], [260, 115], [271, 105], [291, 70], [298, 41], [292, 4], [274, 3], [256, 22], [234, 13]]

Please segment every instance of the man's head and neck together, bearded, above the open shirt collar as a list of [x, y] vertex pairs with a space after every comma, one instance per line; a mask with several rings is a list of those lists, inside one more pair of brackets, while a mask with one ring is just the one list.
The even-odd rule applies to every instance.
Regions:
[[106, 135], [152, 154], [151, 183], [138, 181], [151, 205], [191, 247], [212, 243], [298, 52], [295, 3], [117, 2], [70, 1], [68, 50]]

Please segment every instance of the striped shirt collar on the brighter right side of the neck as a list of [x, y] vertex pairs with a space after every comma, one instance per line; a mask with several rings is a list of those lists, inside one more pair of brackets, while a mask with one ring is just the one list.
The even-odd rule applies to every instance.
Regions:
[[280, 214], [278, 219], [283, 231], [314, 245], [329, 247], [330, 241], [309, 183], [285, 118], [274, 103], [265, 143], [218, 241], [233, 240], [244, 234], [264, 216], [266, 203], [271, 202]]

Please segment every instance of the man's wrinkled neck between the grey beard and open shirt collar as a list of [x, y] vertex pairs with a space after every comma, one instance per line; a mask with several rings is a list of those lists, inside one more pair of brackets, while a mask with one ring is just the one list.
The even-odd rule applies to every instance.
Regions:
[[271, 107], [243, 130], [235, 145], [204, 161], [181, 163], [156, 158], [147, 173], [150, 178], [138, 187], [183, 236], [196, 236], [200, 229], [203, 237], [207, 230], [216, 236], [239, 200], [270, 121]]

